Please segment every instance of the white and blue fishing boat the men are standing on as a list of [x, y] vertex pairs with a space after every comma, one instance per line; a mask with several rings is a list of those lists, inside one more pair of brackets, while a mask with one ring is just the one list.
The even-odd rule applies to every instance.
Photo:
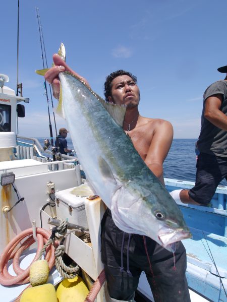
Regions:
[[[14, 301], [27, 287], [29, 282], [24, 271], [41, 254], [40, 248], [37, 252], [40, 229], [46, 230], [47, 236], [55, 237], [57, 233], [60, 235], [60, 226], [65, 223], [65, 232], [60, 236], [64, 265], [72, 268], [73, 263], [75, 269], [79, 268], [86, 286], [94, 294], [89, 301], [103, 302], [100, 221], [105, 205], [86, 185], [77, 157], [59, 154], [48, 140], [43, 147], [36, 138], [20, 136], [18, 123], [25, 116], [23, 102], [29, 103], [29, 98], [23, 97], [22, 91], [19, 96], [18, 90], [15, 92], [7, 86], [8, 82], [9, 77], [0, 74], [1, 300]], [[193, 182], [181, 179], [164, 178], [164, 182], [169, 192], [194, 186]], [[192, 238], [183, 240], [192, 302], [227, 301], [226, 196], [227, 187], [218, 186], [209, 207], [178, 203], [193, 234]], [[34, 241], [26, 250], [22, 244], [25, 233]], [[15, 238], [22, 248], [11, 255]], [[48, 242], [42, 237], [43, 240]], [[60, 288], [59, 284], [69, 273], [70, 269], [56, 269], [52, 265], [47, 283]], [[154, 301], [144, 272], [135, 300]]]

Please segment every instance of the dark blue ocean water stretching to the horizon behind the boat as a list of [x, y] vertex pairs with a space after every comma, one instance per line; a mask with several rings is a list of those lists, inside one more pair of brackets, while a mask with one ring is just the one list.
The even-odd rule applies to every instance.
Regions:
[[[45, 138], [37, 138], [43, 146]], [[68, 148], [74, 149], [71, 138], [67, 138]], [[196, 139], [174, 139], [171, 149], [163, 164], [163, 173], [166, 178], [189, 180], [195, 182], [196, 176]], [[227, 186], [226, 180], [221, 185]]]

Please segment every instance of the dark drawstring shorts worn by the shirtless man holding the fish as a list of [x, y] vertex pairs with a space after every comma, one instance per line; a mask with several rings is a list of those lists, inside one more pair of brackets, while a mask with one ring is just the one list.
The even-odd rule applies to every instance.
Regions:
[[144, 271], [155, 301], [189, 302], [185, 276], [186, 251], [181, 241], [176, 247], [174, 258], [173, 253], [151, 238], [123, 232], [115, 225], [111, 212], [107, 209], [101, 222], [101, 257], [111, 298], [125, 301], [132, 299], [140, 274]]

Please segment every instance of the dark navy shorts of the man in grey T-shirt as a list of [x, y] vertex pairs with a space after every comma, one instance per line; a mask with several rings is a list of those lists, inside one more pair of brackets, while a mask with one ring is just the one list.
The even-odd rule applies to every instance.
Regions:
[[195, 187], [189, 196], [201, 205], [207, 206], [218, 184], [227, 176], [227, 158], [200, 153], [196, 163]]

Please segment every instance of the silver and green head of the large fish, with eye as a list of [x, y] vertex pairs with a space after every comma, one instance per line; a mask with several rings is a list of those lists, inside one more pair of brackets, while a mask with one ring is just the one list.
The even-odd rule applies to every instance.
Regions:
[[111, 212], [120, 229], [146, 235], [171, 252], [177, 241], [191, 237], [181, 210], [165, 189], [141, 194], [122, 186], [116, 194]]

